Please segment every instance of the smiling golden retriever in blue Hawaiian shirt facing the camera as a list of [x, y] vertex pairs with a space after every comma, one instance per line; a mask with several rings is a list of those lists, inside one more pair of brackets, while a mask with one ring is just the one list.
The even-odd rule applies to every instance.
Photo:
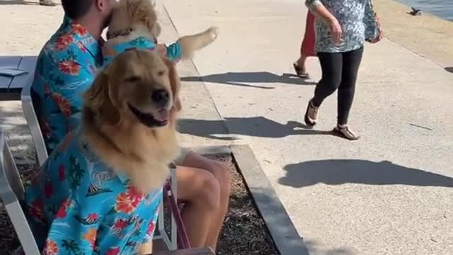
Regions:
[[178, 156], [175, 64], [127, 50], [85, 94], [69, 132], [25, 191], [44, 254], [137, 254], [156, 227], [168, 164]]

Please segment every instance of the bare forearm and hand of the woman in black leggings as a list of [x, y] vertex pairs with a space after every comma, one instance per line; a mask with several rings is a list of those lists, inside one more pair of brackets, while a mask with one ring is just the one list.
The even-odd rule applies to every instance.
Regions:
[[339, 43], [341, 35], [343, 35], [343, 30], [341, 29], [337, 18], [328, 11], [326, 6], [321, 3], [321, 0], [305, 0], [305, 5], [316, 18], [321, 18], [321, 21], [330, 26], [333, 40]]

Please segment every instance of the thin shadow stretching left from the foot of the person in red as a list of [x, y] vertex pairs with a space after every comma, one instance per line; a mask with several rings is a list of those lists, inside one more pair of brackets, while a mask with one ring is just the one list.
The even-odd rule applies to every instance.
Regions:
[[282, 83], [294, 85], [314, 85], [314, 81], [306, 81], [294, 74], [277, 75], [271, 72], [227, 72], [223, 74], [211, 74], [204, 77], [182, 77], [181, 81], [205, 81], [217, 84], [234, 86], [247, 86], [257, 89], [275, 89], [271, 86], [254, 85], [253, 83]]

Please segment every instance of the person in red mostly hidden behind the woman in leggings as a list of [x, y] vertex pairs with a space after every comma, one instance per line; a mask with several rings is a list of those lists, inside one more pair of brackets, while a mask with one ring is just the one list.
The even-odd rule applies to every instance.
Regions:
[[302, 45], [300, 46], [300, 57], [292, 64], [297, 76], [302, 79], [309, 79], [309, 74], [305, 69], [305, 62], [307, 57], [316, 57], [314, 50], [315, 45], [314, 34], [314, 15], [310, 11], [306, 13], [305, 34]]

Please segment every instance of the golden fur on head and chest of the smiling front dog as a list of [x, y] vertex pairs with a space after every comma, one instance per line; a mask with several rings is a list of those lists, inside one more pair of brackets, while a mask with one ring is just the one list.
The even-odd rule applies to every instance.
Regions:
[[[144, 125], [130, 106], [153, 113], [156, 90], [169, 92], [168, 124]], [[105, 164], [130, 177], [143, 192], [161, 186], [177, 156], [176, 114], [180, 81], [173, 62], [155, 52], [127, 50], [96, 77], [84, 94], [83, 134]]]

